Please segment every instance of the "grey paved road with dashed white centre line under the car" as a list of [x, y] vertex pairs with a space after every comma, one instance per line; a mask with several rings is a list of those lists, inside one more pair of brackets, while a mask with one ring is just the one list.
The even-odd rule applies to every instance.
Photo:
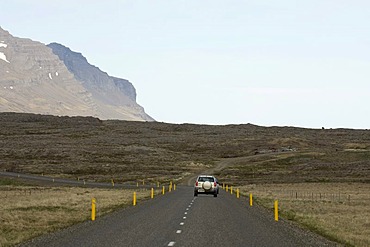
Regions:
[[225, 191], [193, 197], [192, 187], [23, 244], [30, 246], [336, 246], [249, 207]]

